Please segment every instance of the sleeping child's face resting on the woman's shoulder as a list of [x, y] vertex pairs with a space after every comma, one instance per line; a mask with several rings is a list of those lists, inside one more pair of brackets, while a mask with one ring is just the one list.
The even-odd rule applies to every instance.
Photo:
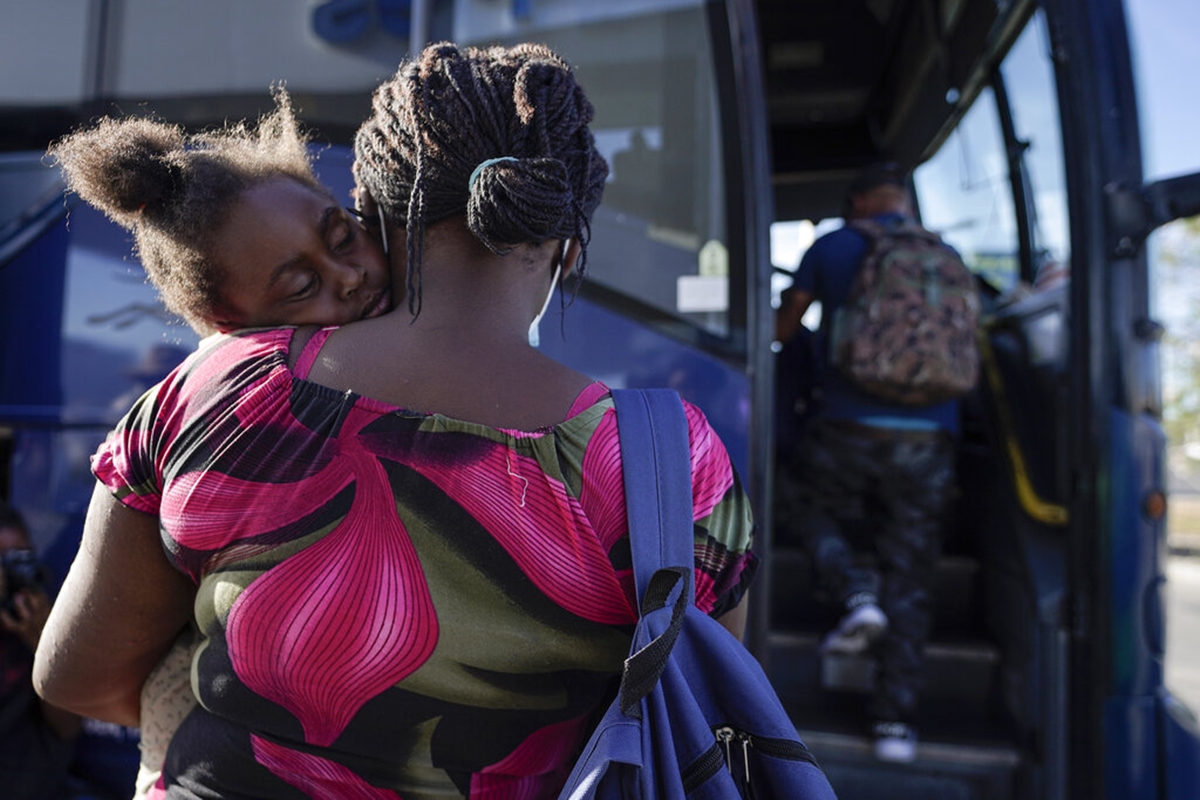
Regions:
[[374, 235], [325, 194], [290, 178], [245, 192], [216, 231], [223, 269], [221, 330], [341, 325], [391, 308], [391, 277]]

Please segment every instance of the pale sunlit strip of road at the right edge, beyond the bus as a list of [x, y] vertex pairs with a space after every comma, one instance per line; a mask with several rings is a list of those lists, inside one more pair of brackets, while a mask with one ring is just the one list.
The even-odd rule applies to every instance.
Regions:
[[1200, 558], [1166, 561], [1166, 686], [1200, 714]]

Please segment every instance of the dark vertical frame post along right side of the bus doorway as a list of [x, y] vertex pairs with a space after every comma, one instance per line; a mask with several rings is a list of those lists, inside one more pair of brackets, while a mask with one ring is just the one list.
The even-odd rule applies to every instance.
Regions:
[[[1068, 597], [1072, 676], [1068, 794], [1104, 798], [1097, 763], [1134, 764], [1104, 736], [1112, 693], [1111, 413], [1128, 408], [1129, 335], [1146, 311], [1145, 253], [1117, 257], [1110, 246], [1105, 190], [1141, 186], [1141, 145], [1128, 31], [1118, 0], [1042, 0], [1056, 61], [1070, 221], [1067, 403], [1070, 498]], [[1102, 491], [1104, 489], [1104, 491]], [[1147, 742], [1151, 744], [1151, 742]], [[1124, 768], [1117, 768], [1124, 769]]]

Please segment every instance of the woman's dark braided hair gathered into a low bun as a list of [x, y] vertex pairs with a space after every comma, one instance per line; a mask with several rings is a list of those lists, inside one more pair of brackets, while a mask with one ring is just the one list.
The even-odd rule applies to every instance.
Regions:
[[425, 228], [454, 215], [499, 254], [576, 237], [582, 275], [608, 175], [593, 113], [570, 66], [542, 44], [431, 44], [376, 89], [354, 178], [404, 222], [409, 311], [420, 313]]

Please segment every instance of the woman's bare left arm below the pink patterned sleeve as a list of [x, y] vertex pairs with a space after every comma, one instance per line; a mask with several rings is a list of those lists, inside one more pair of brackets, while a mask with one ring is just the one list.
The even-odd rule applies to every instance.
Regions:
[[60, 708], [137, 727], [142, 684], [191, 619], [194, 595], [162, 552], [157, 518], [97, 483], [37, 646], [34, 687]]

